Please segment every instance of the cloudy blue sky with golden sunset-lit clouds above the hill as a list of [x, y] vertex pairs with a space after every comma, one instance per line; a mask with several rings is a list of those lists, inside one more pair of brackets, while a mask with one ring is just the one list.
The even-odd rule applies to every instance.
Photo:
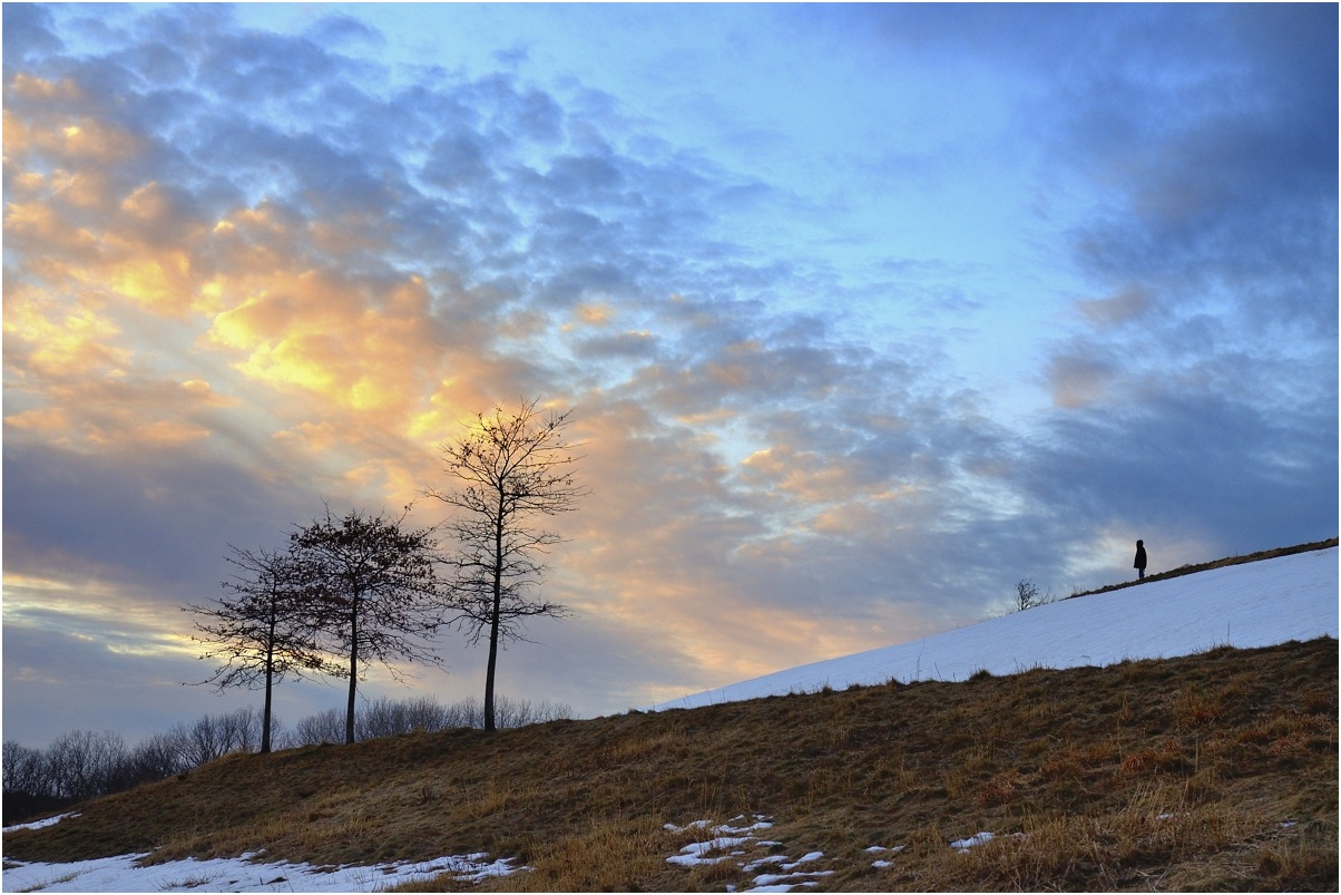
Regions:
[[1337, 70], [1330, 4], [5, 4], [4, 737], [255, 702], [182, 686], [228, 545], [522, 397], [591, 494], [499, 687], [579, 715], [1332, 537]]

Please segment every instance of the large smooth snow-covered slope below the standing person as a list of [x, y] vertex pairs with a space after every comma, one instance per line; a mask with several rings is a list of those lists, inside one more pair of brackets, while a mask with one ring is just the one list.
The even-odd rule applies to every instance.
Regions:
[[692, 708], [890, 678], [964, 680], [1033, 667], [1108, 666], [1219, 645], [1267, 647], [1337, 636], [1337, 549], [1261, 560], [1062, 600], [932, 637], [778, 671], [684, 696]]

